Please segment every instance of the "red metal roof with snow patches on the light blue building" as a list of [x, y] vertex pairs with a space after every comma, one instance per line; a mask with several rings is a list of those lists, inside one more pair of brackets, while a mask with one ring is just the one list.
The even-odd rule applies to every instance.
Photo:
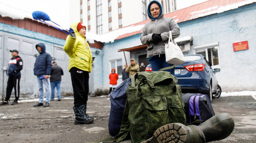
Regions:
[[[251, 4], [254, 2], [256, 2], [256, 0], [210, 0], [171, 13], [166, 13], [164, 14], [164, 17], [172, 17], [177, 23], [181, 23], [204, 16], [209, 16], [211, 14], [222, 13], [225, 11], [229, 11], [231, 9], [236, 9], [238, 7], [244, 6], [246, 4]], [[149, 21], [150, 19], [126, 27], [145, 24]], [[139, 33], [141, 33], [141, 29], [138, 31], [133, 31], [130, 33], [120, 35], [115, 40], [136, 35]]]

